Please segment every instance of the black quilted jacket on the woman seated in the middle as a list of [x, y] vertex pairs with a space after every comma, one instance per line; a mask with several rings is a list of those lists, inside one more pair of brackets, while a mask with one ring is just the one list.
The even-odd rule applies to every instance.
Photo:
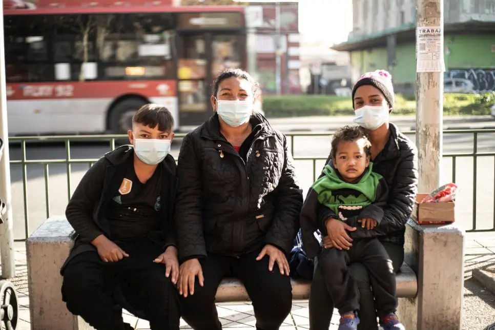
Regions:
[[283, 134], [251, 118], [247, 161], [220, 134], [218, 115], [184, 137], [175, 210], [179, 261], [207, 253], [239, 256], [264, 244], [291, 252], [302, 190]]

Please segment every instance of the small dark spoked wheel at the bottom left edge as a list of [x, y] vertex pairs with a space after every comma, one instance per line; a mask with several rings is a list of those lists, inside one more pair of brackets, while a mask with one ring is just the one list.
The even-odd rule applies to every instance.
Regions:
[[0, 281], [0, 302], [0, 329], [15, 330], [19, 319], [19, 299], [9, 281]]

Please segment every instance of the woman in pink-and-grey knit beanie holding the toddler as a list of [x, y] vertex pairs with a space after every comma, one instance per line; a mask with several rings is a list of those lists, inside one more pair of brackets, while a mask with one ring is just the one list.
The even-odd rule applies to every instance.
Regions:
[[[394, 88], [388, 72], [377, 70], [361, 76], [353, 88], [354, 121], [367, 129], [372, 143], [373, 171], [381, 174], [388, 183], [389, 198], [384, 217], [373, 230], [363, 228], [360, 223], [347, 224], [339, 220], [331, 210], [316, 207], [317, 203], [307, 198], [301, 211], [301, 230], [307, 256], [314, 258], [320, 244], [313, 233], [320, 230], [323, 248], [348, 249], [352, 238], [378, 237], [386, 249], [397, 272], [404, 260], [405, 224], [412, 212], [417, 193], [417, 150], [412, 141], [389, 122], [389, 113], [394, 107]], [[327, 163], [331, 158], [327, 160]], [[317, 262], [316, 262], [317, 264]], [[377, 315], [369, 274], [363, 264], [349, 265], [360, 293], [359, 330], [377, 329]], [[326, 290], [324, 278], [318, 266], [311, 287], [310, 328], [328, 329], [334, 309], [332, 298]]]

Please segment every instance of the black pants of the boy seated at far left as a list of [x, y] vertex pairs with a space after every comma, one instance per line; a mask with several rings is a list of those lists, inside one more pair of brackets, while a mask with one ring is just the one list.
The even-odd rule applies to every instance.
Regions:
[[97, 330], [126, 329], [115, 292], [118, 285], [126, 301], [141, 311], [154, 330], [178, 330], [177, 289], [165, 276], [165, 265], [153, 260], [163, 251], [150, 240], [118, 243], [129, 257], [104, 262], [97, 252], [76, 255], [64, 272], [62, 297], [67, 309]]

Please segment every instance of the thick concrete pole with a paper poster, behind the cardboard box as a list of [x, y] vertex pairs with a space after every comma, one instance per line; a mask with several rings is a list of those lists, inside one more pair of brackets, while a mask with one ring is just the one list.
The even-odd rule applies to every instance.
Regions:
[[441, 183], [443, 39], [443, 0], [417, 0], [416, 146], [421, 193]]

